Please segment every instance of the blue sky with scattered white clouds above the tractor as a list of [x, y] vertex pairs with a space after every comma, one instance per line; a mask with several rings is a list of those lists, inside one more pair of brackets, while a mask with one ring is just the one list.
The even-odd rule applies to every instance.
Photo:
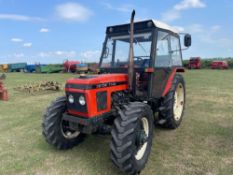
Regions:
[[232, 0], [0, 0], [0, 63], [98, 60], [106, 26], [132, 9], [192, 34], [186, 59], [233, 57]]

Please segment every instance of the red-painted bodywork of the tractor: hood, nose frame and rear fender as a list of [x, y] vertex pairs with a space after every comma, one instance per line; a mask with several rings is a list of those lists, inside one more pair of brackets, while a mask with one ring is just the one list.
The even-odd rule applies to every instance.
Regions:
[[[153, 70], [151, 69], [149, 70], [149, 72], [153, 72]], [[172, 69], [172, 72], [169, 74], [168, 80], [166, 82], [166, 86], [164, 88], [163, 93], [161, 94], [161, 97], [164, 97], [169, 92], [176, 72], [184, 72], [184, 68]], [[82, 93], [85, 96], [86, 107], [87, 107], [86, 113], [80, 112], [78, 111], [78, 109], [77, 110], [68, 109], [68, 113], [71, 115], [83, 116], [87, 118], [93, 118], [96, 116], [100, 116], [103, 113], [110, 112], [112, 93], [129, 89], [127, 74], [101, 74], [101, 75], [94, 75], [93, 77], [90, 78], [72, 78], [67, 80], [66, 84], [79, 85], [79, 87], [80, 85], [82, 86], [91, 85], [95, 87], [90, 89], [78, 89], [78, 88], [70, 88], [70, 87], [65, 88], [65, 91], [69, 93]], [[102, 92], [102, 91], [107, 92], [107, 108], [98, 111], [96, 94], [97, 92]]]

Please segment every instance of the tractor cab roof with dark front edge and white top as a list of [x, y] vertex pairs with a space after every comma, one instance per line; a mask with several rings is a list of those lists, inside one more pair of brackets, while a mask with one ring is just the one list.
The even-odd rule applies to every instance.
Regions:
[[[149, 19], [149, 20], [134, 22], [135, 31], [149, 30], [152, 28], [159, 28], [159, 29], [163, 29], [163, 30], [175, 33], [175, 34], [179, 34], [179, 31], [175, 27], [172, 27], [158, 20]], [[114, 25], [114, 26], [108, 26], [106, 33], [107, 34], [116, 34], [116, 33], [118, 34], [118, 33], [125, 33], [125, 32], [128, 33], [129, 29], [130, 29], [130, 23], [119, 24], [119, 25]]]

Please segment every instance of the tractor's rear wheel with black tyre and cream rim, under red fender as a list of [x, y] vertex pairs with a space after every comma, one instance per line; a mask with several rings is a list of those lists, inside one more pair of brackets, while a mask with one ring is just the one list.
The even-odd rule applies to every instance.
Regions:
[[159, 112], [159, 124], [165, 128], [176, 129], [180, 126], [185, 108], [185, 82], [176, 74], [172, 87], [162, 101]]

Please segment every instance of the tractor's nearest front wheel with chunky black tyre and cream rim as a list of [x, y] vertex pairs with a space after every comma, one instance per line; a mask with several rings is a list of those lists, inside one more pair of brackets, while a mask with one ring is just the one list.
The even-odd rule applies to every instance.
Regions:
[[111, 160], [125, 173], [139, 173], [148, 160], [153, 138], [153, 112], [132, 102], [119, 110], [111, 131]]

